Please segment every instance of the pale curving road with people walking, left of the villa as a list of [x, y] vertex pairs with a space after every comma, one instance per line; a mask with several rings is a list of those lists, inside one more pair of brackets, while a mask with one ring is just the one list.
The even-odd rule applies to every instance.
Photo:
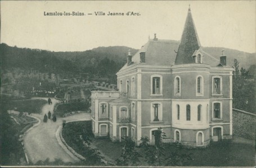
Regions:
[[[48, 98], [38, 98], [33, 99], [45, 99]], [[24, 147], [27, 152], [30, 162], [36, 163], [39, 160], [46, 160], [50, 158], [50, 161], [54, 161], [55, 158], [60, 158], [64, 162], [75, 162], [78, 159], [70, 153], [66, 153], [65, 150], [60, 146], [55, 137], [56, 131], [62, 124], [62, 120], [91, 120], [89, 113], [79, 113], [75, 115], [68, 116], [66, 118], [57, 118], [56, 122], [48, 120], [47, 123], [43, 123], [44, 114], [48, 114], [48, 111], [53, 113], [54, 105], [59, 102], [59, 100], [52, 98], [52, 104], [43, 106], [41, 114], [32, 114], [36, 118], [40, 119], [40, 123], [37, 127], [31, 129], [24, 137]]]

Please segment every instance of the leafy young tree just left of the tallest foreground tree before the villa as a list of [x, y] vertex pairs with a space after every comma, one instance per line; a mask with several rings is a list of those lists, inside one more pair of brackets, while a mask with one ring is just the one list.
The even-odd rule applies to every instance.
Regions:
[[116, 160], [118, 166], [138, 166], [140, 157], [142, 157], [134, 148], [135, 143], [131, 137], [122, 137], [124, 139], [124, 147], [122, 155]]

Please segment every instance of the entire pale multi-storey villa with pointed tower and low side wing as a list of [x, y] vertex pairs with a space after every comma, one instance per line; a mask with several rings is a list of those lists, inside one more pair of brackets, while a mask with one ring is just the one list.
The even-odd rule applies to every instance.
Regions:
[[232, 71], [224, 52], [218, 60], [201, 49], [188, 9], [181, 41], [155, 35], [128, 52], [118, 91], [92, 91], [93, 134], [154, 144], [161, 127], [165, 142], [192, 147], [232, 138]]

